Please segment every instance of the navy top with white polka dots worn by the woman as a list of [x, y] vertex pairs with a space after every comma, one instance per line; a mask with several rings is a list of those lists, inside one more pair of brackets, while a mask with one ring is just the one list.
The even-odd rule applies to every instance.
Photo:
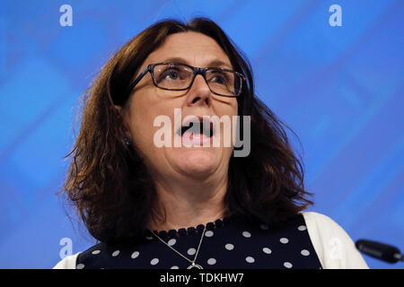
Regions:
[[94, 245], [79, 254], [76, 268], [186, 269], [196, 256], [195, 265], [204, 269], [321, 268], [302, 214], [277, 228], [233, 215], [206, 226], [154, 232], [160, 239], [146, 230], [133, 245]]

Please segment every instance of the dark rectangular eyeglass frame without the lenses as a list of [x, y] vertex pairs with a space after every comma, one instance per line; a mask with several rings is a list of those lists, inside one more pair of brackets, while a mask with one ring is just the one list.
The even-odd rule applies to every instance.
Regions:
[[[194, 74], [192, 76], [192, 81], [189, 83], [189, 86], [187, 88], [182, 88], [182, 89], [169, 89], [169, 88], [159, 87], [158, 84], [155, 82], [155, 78], [154, 78], [154, 66], [156, 66], [156, 65], [185, 65], [185, 66], [189, 67], [191, 70], [194, 71]], [[236, 74], [236, 75], [240, 76], [241, 79], [242, 79], [242, 81], [240, 83], [240, 91], [236, 95], [233, 95], [233, 96], [223, 95], [223, 94], [217, 93], [215, 91], [212, 91], [212, 88], [210, 87], [209, 83], [207, 83], [207, 80], [206, 80], [206, 71], [208, 71], [208, 70], [215, 70], [215, 71], [219, 70], [219, 71], [224, 71], [224, 72], [231, 72], [233, 74]], [[169, 63], [156, 63], [156, 64], [147, 65], [145, 67], [145, 70], [143, 70], [143, 72], [136, 77], [134, 82], [131, 83], [130, 86], [129, 86], [129, 91], [130, 92], [133, 91], [133, 89], [135, 89], [136, 84], [139, 83], [140, 80], [142, 80], [142, 78], [148, 72], [150, 72], [150, 74], [152, 74], [152, 79], [153, 79], [154, 86], [156, 86], [159, 89], [167, 90], [167, 91], [185, 91], [185, 90], [188, 90], [192, 86], [192, 84], [194, 83], [195, 77], [197, 76], [197, 74], [201, 74], [204, 77], [205, 82], [206, 82], [207, 86], [209, 87], [210, 91], [212, 91], [213, 93], [215, 93], [218, 96], [227, 97], [227, 98], [237, 98], [238, 96], [240, 96], [240, 94], [242, 93], [242, 83], [245, 82], [245, 76], [243, 74], [240, 74], [240, 73], [238, 73], [236, 71], [225, 69], [225, 68], [220, 68], [220, 67], [199, 68], [199, 67], [196, 67], [196, 66], [187, 65], [187, 64], [183, 64], [183, 63], [171, 63], [171, 62], [169, 62]]]

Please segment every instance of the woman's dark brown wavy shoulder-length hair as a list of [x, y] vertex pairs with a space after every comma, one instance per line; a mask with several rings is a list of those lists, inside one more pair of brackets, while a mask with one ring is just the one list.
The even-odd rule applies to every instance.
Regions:
[[225, 215], [275, 224], [312, 204], [306, 198], [311, 193], [304, 189], [301, 161], [283, 127], [287, 126], [254, 94], [248, 59], [211, 20], [165, 20], [120, 48], [83, 93], [80, 131], [65, 157], [73, 158], [58, 194], [66, 196], [92, 237], [102, 242], [126, 242], [143, 233], [148, 217], [159, 213], [152, 211], [157, 196], [154, 182], [136, 147], [125, 144], [127, 128], [114, 105], [127, 109], [130, 83], [145, 58], [169, 35], [184, 31], [215, 39], [233, 69], [246, 77], [237, 100], [239, 115], [251, 120], [250, 155], [230, 159]]

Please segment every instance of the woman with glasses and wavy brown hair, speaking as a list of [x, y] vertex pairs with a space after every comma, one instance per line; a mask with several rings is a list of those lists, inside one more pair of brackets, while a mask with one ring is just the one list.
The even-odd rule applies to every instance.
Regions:
[[[253, 89], [215, 22], [158, 22], [131, 39], [87, 93], [62, 189], [100, 243], [55, 267], [367, 268], [336, 222], [303, 213], [302, 166]], [[231, 135], [250, 140], [244, 156], [212, 120], [238, 116], [250, 119]]]

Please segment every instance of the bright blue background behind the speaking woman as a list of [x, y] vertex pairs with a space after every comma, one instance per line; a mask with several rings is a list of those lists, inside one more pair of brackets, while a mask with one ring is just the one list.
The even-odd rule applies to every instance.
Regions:
[[[61, 27], [59, 7], [73, 8]], [[329, 6], [342, 26], [329, 25]], [[299, 136], [312, 211], [404, 251], [404, 1], [2, 1], [0, 267], [50, 268], [92, 238], [55, 195], [77, 100], [127, 40], [207, 16], [250, 58], [257, 92]], [[77, 132], [77, 131], [76, 131]], [[364, 257], [372, 268], [402, 268]]]

